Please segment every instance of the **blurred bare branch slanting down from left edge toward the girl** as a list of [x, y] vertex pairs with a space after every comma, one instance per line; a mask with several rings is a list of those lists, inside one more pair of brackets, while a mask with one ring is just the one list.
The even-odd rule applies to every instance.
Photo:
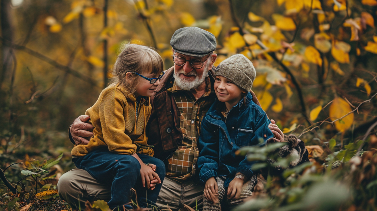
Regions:
[[6, 45], [8, 47], [11, 47], [11, 48], [16, 49], [16, 50], [22, 50], [22, 51], [38, 58], [38, 59], [41, 59], [42, 61], [45, 61], [45, 62], [51, 64], [52, 66], [58, 68], [59, 70], [63, 70], [64, 72], [72, 74], [73, 76], [77, 77], [78, 79], [81, 79], [85, 82], [88, 82], [88, 83], [98, 87], [97, 82], [95, 80], [93, 80], [92, 78], [90, 78], [88, 76], [85, 76], [84, 74], [78, 72], [77, 70], [74, 70], [70, 67], [62, 65], [62, 64], [58, 63], [57, 61], [52, 60], [52, 59], [48, 58], [47, 56], [44, 56], [43, 54], [38, 53], [34, 50], [31, 50], [31, 49], [29, 49], [25, 46], [20, 46], [20, 45], [11, 43], [11, 42], [7, 41], [6, 39], [4, 39], [2, 37], [0, 37], [0, 40], [3, 42], [4, 45]]

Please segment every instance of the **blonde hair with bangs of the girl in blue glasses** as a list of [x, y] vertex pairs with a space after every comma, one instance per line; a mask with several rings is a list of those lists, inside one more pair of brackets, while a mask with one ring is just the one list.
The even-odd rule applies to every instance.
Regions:
[[133, 94], [138, 87], [141, 77], [131, 74], [129, 80], [126, 80], [128, 72], [160, 74], [162, 71], [164, 71], [164, 62], [155, 49], [138, 44], [125, 43], [121, 46], [121, 52], [113, 66], [112, 82], [117, 82], [129, 94]]

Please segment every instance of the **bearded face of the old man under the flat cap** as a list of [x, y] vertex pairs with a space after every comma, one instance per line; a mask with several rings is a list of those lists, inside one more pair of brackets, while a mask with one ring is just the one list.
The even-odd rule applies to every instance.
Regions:
[[211, 69], [211, 65], [213, 64], [213, 62], [211, 61], [214, 61], [216, 59], [215, 56], [215, 58], [212, 58], [211, 60], [211, 57], [213, 57], [213, 55], [207, 55], [203, 57], [188, 56], [177, 53], [174, 50], [173, 55], [179, 58], [184, 58], [186, 61], [195, 59], [203, 62], [203, 66], [198, 69], [192, 67], [190, 62], [186, 62], [183, 66], [174, 64], [175, 82], [177, 83], [178, 87], [183, 90], [192, 90], [199, 87], [199, 85], [203, 83], [205, 77], [208, 75], [208, 71]]

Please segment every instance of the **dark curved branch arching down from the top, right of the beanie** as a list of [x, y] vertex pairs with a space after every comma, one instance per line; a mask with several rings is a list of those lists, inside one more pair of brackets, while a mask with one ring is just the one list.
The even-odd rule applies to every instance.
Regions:
[[[231, 17], [232, 17], [232, 20], [234, 22], [234, 24], [236, 24], [236, 26], [239, 28], [239, 33], [240, 35], [243, 37], [244, 36], [244, 31], [242, 30], [242, 27], [241, 25], [239, 24], [238, 20], [237, 20], [237, 17], [236, 15], [234, 14], [234, 8], [233, 8], [233, 3], [232, 3], [232, 0], [229, 0], [229, 5], [230, 5], [230, 13], [231, 13]], [[244, 38], [245, 39], [245, 38]], [[250, 45], [245, 41], [246, 43], [246, 46], [249, 47]], [[267, 47], [258, 39], [257, 40], [257, 44], [264, 50], [267, 49]], [[279, 59], [276, 57], [276, 54], [273, 53], [273, 52], [268, 52], [268, 55], [270, 55], [282, 68], [283, 70], [288, 73], [288, 75], [290, 76], [291, 78], [291, 81], [294, 85], [294, 87], [296, 88], [297, 90], [297, 93], [299, 95], [299, 100], [300, 100], [300, 105], [301, 105], [301, 114], [303, 115], [303, 117], [305, 117], [305, 120], [309, 123], [309, 124], [313, 124], [308, 116], [307, 116], [307, 111], [306, 111], [306, 106], [305, 106], [305, 102], [304, 102], [304, 99], [303, 99], [303, 95], [302, 95], [302, 91], [301, 91], [301, 86], [300, 84], [297, 82], [296, 78], [294, 77], [294, 75], [292, 74], [292, 72], [288, 69], [287, 66], [285, 66], [281, 61], [279, 61]]]

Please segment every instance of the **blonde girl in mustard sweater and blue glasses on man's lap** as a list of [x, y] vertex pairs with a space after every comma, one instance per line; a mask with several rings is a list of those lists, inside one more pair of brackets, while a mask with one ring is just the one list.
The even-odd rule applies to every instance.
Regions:
[[[72, 161], [98, 181], [111, 184], [108, 205], [112, 209], [132, 209], [127, 205], [131, 188], [139, 206], [150, 208], [156, 203], [165, 165], [152, 157], [145, 128], [152, 110], [149, 97], [159, 85], [163, 68], [161, 56], [153, 49], [126, 44], [113, 68], [115, 82], [85, 112], [94, 134], [89, 144], [72, 149]], [[155, 187], [150, 184], [154, 179], [158, 180]]]

